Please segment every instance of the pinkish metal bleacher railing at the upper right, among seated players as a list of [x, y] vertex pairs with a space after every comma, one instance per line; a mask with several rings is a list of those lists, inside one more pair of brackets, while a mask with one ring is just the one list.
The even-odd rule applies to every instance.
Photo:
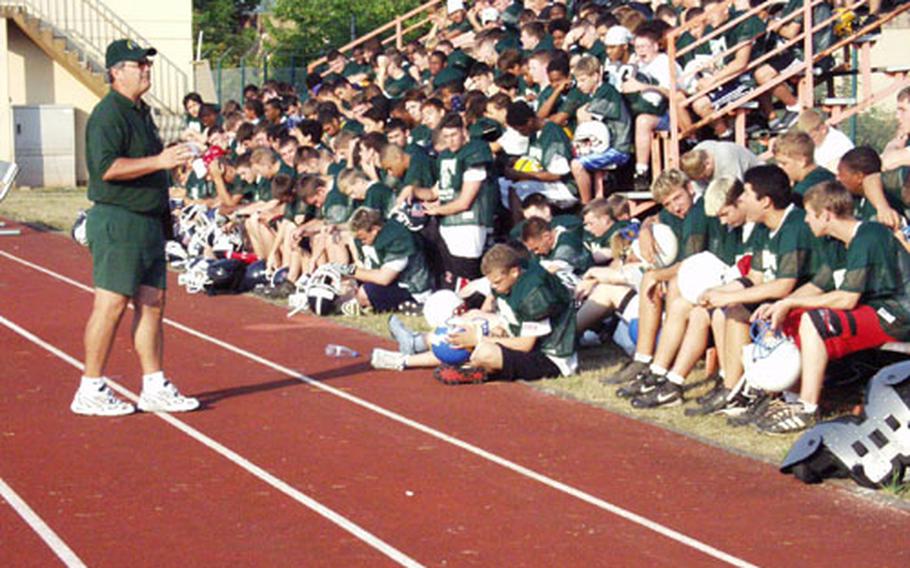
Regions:
[[[699, 128], [706, 126], [708, 124], [711, 124], [715, 120], [732, 115], [737, 110], [742, 109], [744, 105], [750, 103], [751, 101], [754, 101], [755, 99], [762, 96], [763, 94], [774, 90], [782, 83], [789, 82], [791, 79], [794, 79], [794, 78], [799, 79], [797, 96], [799, 98], [801, 105], [804, 108], [812, 108], [813, 106], [815, 106], [814, 90], [815, 90], [815, 82], [816, 82], [816, 76], [815, 76], [816, 64], [818, 64], [822, 59], [825, 59], [826, 57], [835, 53], [838, 49], [841, 49], [841, 48], [850, 46], [851, 44], [857, 43], [858, 39], [870, 34], [871, 32], [875, 32], [876, 30], [880, 29], [883, 24], [893, 20], [894, 18], [896, 18], [903, 12], [910, 9], [910, 5], [905, 4], [905, 5], [898, 6], [895, 9], [893, 9], [890, 13], [882, 14], [879, 17], [879, 19], [877, 19], [867, 25], [864, 25], [862, 27], [858, 27], [857, 29], [852, 30], [852, 32], [845, 35], [841, 39], [835, 41], [827, 48], [816, 52], [816, 51], [814, 51], [814, 45], [813, 45], [813, 37], [815, 36], [815, 34], [821, 30], [824, 30], [825, 28], [827, 28], [829, 26], [833, 26], [834, 22], [840, 17], [838, 14], [834, 13], [831, 17], [824, 19], [822, 21], [819, 21], [819, 22], [813, 21], [813, 17], [812, 17], [813, 9], [815, 7], [817, 7], [818, 5], [824, 3], [825, 1], [826, 0], [806, 1], [803, 3], [802, 9], [795, 10], [794, 12], [788, 14], [786, 17], [782, 18], [780, 20], [781, 23], [786, 24], [801, 16], [802, 21], [803, 21], [801, 31], [796, 36], [794, 36], [790, 39], [784, 39], [784, 41], [780, 42], [775, 48], [769, 49], [764, 54], [762, 54], [760, 57], [758, 57], [754, 60], [751, 60], [749, 62], [749, 64], [747, 65], [747, 67], [745, 69], [743, 69], [743, 71], [740, 75], [743, 75], [746, 73], [751, 73], [752, 71], [757, 69], [759, 66], [765, 64], [770, 59], [772, 59], [778, 55], [781, 55], [785, 51], [794, 48], [796, 45], [798, 45], [800, 42], [802, 42], [803, 57], [802, 57], [802, 61], [799, 64], [794, 64], [794, 65], [790, 66], [783, 73], [779, 73], [772, 80], [766, 82], [763, 85], [756, 86], [754, 89], [749, 91], [746, 95], [744, 95], [740, 98], [737, 98], [736, 100], [734, 100], [730, 103], [727, 103], [726, 105], [722, 106], [720, 109], [715, 110], [714, 112], [712, 112], [711, 114], [709, 114], [708, 116], [706, 116], [704, 118], [694, 121], [691, 125], [689, 125], [688, 127], [685, 127], [685, 128], [681, 127], [681, 125], [680, 125], [679, 115], [680, 115], [681, 108], [687, 107], [693, 101], [695, 101], [701, 97], [707, 96], [708, 93], [712, 92], [714, 89], [718, 88], [719, 86], [721, 86], [729, 81], [737, 80], [737, 77], [727, 77], [725, 79], [711, 81], [709, 84], [695, 89], [695, 91], [690, 94], [679, 87], [681, 77], [680, 77], [679, 73], [677, 72], [676, 65], [673, 65], [673, 64], [670, 65], [670, 83], [671, 83], [671, 88], [670, 88], [670, 93], [669, 93], [670, 136], [669, 136], [669, 146], [667, 148], [666, 156], [665, 156], [665, 160], [664, 160], [665, 167], [674, 167], [679, 163], [680, 140], [682, 140], [683, 138], [694, 133]], [[726, 2], [724, 2], [724, 9], [729, 9], [729, 7], [732, 4], [733, 4], [732, 0], [727, 0]], [[692, 21], [687, 22], [684, 25], [673, 28], [667, 34], [667, 55], [670, 58], [670, 61], [679, 63], [680, 57], [682, 57], [690, 52], [695, 51], [696, 49], [698, 49], [698, 47], [705, 45], [712, 39], [726, 33], [733, 27], [738, 26], [738, 25], [742, 24], [743, 22], [745, 22], [748, 18], [754, 16], [755, 14], [757, 14], [757, 13], [761, 12], [762, 10], [765, 10], [768, 7], [775, 5], [775, 4], [779, 4], [779, 0], [766, 0], [765, 2], [763, 2], [757, 6], [754, 6], [747, 11], [740, 12], [740, 13], [736, 14], [735, 17], [729, 19], [722, 26], [718, 27], [715, 30], [712, 30], [710, 33], [704, 34], [702, 37], [698, 38], [695, 42], [687, 45], [686, 47], [684, 47], [682, 49], [677, 49], [677, 47], [676, 47], [676, 41], [679, 39], [679, 37], [685, 32], [691, 32], [693, 29], [697, 28], [698, 26], [700, 26], [702, 24], [706, 24], [708, 16], [707, 16], [707, 14], [703, 14], [703, 15], [699, 16], [698, 18], [695, 18]], [[855, 10], [856, 8], [858, 8], [860, 6], [866, 6], [868, 4], [869, 4], [868, 0], [857, 0], [855, 2], [848, 4], [847, 6], [845, 6], [845, 8], [848, 10]], [[764, 33], [767, 33], [767, 32], [764, 32]], [[757, 39], [759, 39], [758, 36], [751, 38], [750, 40], [748, 40], [748, 42], [752, 43]], [[745, 45], [746, 43], [747, 42], [741, 42], [737, 45], [728, 47], [726, 49], [726, 51], [724, 51], [722, 53], [714, 54], [712, 56], [712, 58], [710, 59], [710, 64], [713, 65], [718, 61], [723, 61], [727, 56], [735, 53], [739, 48], [743, 47], [743, 45]], [[865, 67], [868, 67], [868, 62], [866, 62]], [[864, 73], [864, 75], [868, 75], [868, 73]], [[865, 79], [866, 79], [866, 82], [868, 83], [868, 77], [865, 77]], [[902, 82], [908, 81], [906, 76], [903, 76], [901, 79], [902, 79]], [[896, 82], [896, 84], [900, 84], [900, 83]], [[888, 92], [889, 93], [893, 92], [895, 89], [896, 89], [895, 85], [891, 85], [888, 88]], [[828, 122], [830, 124], [836, 124], [837, 122], [843, 121], [844, 119], [848, 118], [849, 116], [852, 116], [856, 112], [859, 112], [858, 109], [868, 108], [869, 106], [871, 106], [871, 104], [874, 104], [874, 102], [876, 102], [877, 100], [881, 100], [881, 98], [882, 98], [882, 93], [872, 93], [871, 87], [868, 84], [866, 85], [864, 95], [865, 96], [863, 97], [862, 100], [857, 101], [857, 103], [856, 103], [857, 109], [851, 109], [850, 111], [847, 111], [845, 113], [840, 113], [840, 114], [838, 114], [837, 117], [832, 117], [832, 119], [829, 119]], [[738, 140], [738, 142], [743, 143], [742, 140]]]

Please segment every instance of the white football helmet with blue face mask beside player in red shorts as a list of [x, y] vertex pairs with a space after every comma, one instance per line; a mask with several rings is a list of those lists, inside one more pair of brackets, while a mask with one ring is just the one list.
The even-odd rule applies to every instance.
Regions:
[[749, 330], [752, 343], [743, 347], [746, 382], [767, 392], [781, 392], [799, 380], [802, 357], [791, 338], [757, 320]]

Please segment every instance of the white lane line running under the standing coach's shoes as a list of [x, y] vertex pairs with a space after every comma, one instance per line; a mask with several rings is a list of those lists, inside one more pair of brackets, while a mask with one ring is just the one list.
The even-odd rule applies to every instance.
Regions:
[[[25, 339], [31, 341], [32, 343], [34, 343], [35, 345], [41, 347], [42, 349], [45, 349], [45, 350], [49, 351], [50, 353], [52, 353], [52, 354], [55, 355], [56, 357], [58, 357], [58, 358], [62, 359], [63, 361], [69, 363], [70, 365], [72, 365], [73, 367], [79, 369], [80, 371], [82, 371], [82, 370], [85, 369], [85, 366], [84, 366], [84, 365], [82, 364], [82, 362], [79, 361], [78, 359], [76, 359], [76, 358], [70, 356], [69, 354], [67, 354], [67, 353], [65, 353], [65, 352], [63, 352], [63, 351], [61, 351], [61, 350], [58, 349], [57, 347], [55, 347], [55, 346], [51, 345], [50, 343], [44, 341], [43, 339], [41, 339], [40, 337], [38, 337], [38, 336], [35, 335], [34, 333], [28, 331], [27, 329], [24, 329], [23, 327], [21, 327], [21, 326], [17, 325], [16, 323], [14, 323], [14, 322], [8, 320], [7, 318], [3, 317], [2, 315], [0, 315], [0, 324], [4, 325], [5, 327], [9, 328], [10, 330], [14, 331], [15, 333], [21, 335], [22, 337], [24, 337]], [[110, 379], [107, 379], [107, 383], [111, 386], [111, 388], [113, 388], [114, 390], [116, 390], [117, 392], [119, 392], [120, 394], [122, 394], [123, 396], [129, 398], [129, 399], [132, 400], [133, 402], [137, 402], [137, 401], [139, 400], [139, 397], [138, 397], [136, 394], [134, 394], [133, 392], [131, 392], [131, 391], [129, 391], [128, 389], [124, 388], [123, 386], [121, 386], [120, 384], [118, 384], [116, 381], [112, 381], [112, 380], [110, 380]], [[164, 420], [165, 422], [167, 422], [168, 424], [170, 424], [171, 426], [173, 426], [174, 428], [177, 428], [178, 430], [180, 430], [181, 432], [183, 432], [184, 434], [186, 434], [186, 435], [189, 436], [190, 438], [193, 438], [194, 440], [196, 440], [197, 442], [199, 442], [199, 443], [202, 444], [203, 446], [205, 446], [205, 447], [209, 448], [210, 450], [212, 450], [212, 451], [214, 451], [214, 452], [220, 454], [222, 457], [227, 458], [228, 461], [230, 461], [230, 462], [232, 462], [233, 464], [235, 464], [235, 465], [241, 467], [242, 469], [246, 470], [247, 472], [249, 472], [249, 473], [252, 474], [253, 476], [259, 478], [260, 480], [264, 481], [264, 482], [267, 483], [268, 485], [271, 485], [272, 487], [274, 487], [274, 488], [277, 489], [278, 491], [284, 493], [285, 495], [287, 495], [287, 496], [290, 497], [291, 499], [297, 501], [298, 503], [300, 503], [300, 504], [303, 505], [304, 507], [306, 507], [306, 508], [312, 510], [313, 512], [319, 514], [320, 516], [324, 517], [325, 519], [327, 519], [327, 520], [331, 521], [332, 523], [338, 525], [340, 528], [342, 528], [342, 529], [344, 529], [345, 531], [351, 533], [352, 535], [354, 535], [356, 538], [360, 539], [360, 540], [363, 541], [364, 543], [366, 543], [366, 544], [372, 546], [373, 548], [375, 548], [376, 550], [378, 550], [378, 551], [381, 552], [382, 554], [386, 555], [387, 557], [389, 557], [389, 558], [392, 559], [393, 561], [397, 562], [397, 563], [400, 564], [401, 566], [408, 566], [408, 567], [413, 567], [413, 568], [422, 566], [419, 562], [417, 562], [417, 561], [414, 560], [413, 558], [411, 558], [411, 557], [407, 556], [406, 554], [400, 552], [399, 550], [397, 550], [396, 548], [394, 548], [394, 547], [391, 546], [390, 544], [388, 544], [388, 543], [386, 543], [385, 541], [381, 540], [379, 537], [377, 537], [377, 536], [375, 536], [374, 534], [370, 533], [370, 532], [367, 531], [366, 529], [363, 529], [362, 527], [360, 527], [359, 525], [357, 525], [357, 524], [354, 523], [353, 521], [351, 521], [351, 520], [347, 519], [346, 517], [344, 517], [344, 516], [342, 516], [342, 515], [336, 513], [336, 512], [333, 511], [332, 509], [329, 509], [328, 507], [326, 507], [325, 505], [323, 505], [323, 504], [320, 503], [319, 501], [316, 501], [316, 500], [313, 499], [312, 497], [307, 496], [306, 494], [304, 494], [304, 493], [302, 493], [301, 491], [297, 490], [297, 489], [294, 488], [293, 486], [289, 485], [287, 482], [285, 482], [285, 481], [279, 479], [278, 477], [272, 475], [272, 474], [269, 473], [268, 471], [262, 469], [262, 468], [259, 467], [258, 465], [254, 464], [254, 463], [251, 462], [250, 460], [246, 459], [245, 457], [241, 456], [240, 454], [238, 454], [237, 452], [231, 450], [230, 448], [228, 448], [227, 446], [221, 444], [220, 442], [217, 442], [216, 440], [213, 440], [212, 438], [206, 436], [205, 434], [203, 434], [203, 433], [200, 432], [199, 430], [196, 430], [195, 428], [193, 428], [193, 427], [190, 426], [189, 424], [186, 424], [185, 422], [183, 422], [183, 421], [181, 421], [181, 420], [178, 420], [177, 418], [174, 418], [174, 417], [171, 416], [170, 414], [165, 414], [165, 413], [162, 413], [162, 412], [156, 412], [155, 415], [156, 415], [158, 418], [160, 418], [160, 419]], [[39, 520], [40, 520], [40, 519], [39, 519]], [[40, 534], [40, 533], [39, 533], [39, 534]]]

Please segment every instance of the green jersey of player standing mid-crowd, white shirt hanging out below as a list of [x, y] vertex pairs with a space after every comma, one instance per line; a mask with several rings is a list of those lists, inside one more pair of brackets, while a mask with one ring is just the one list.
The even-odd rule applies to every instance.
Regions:
[[493, 223], [495, 202], [499, 198], [499, 188], [492, 176], [493, 154], [490, 147], [479, 140], [471, 140], [457, 153], [446, 150], [437, 160], [439, 168], [439, 201], [442, 204], [454, 201], [461, 193], [465, 172], [483, 171], [485, 178], [480, 191], [467, 211], [455, 215], [446, 215], [439, 220], [443, 226], [480, 225], [489, 227]]

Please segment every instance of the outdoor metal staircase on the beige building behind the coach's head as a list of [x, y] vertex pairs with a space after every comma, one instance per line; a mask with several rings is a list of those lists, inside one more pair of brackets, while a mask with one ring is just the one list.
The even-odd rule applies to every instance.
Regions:
[[[99, 97], [108, 91], [104, 77], [107, 45], [120, 38], [149, 45], [99, 0], [0, 0], [0, 16], [15, 22], [48, 57]], [[165, 137], [179, 129], [183, 96], [189, 90], [186, 73], [159, 53], [152, 67], [152, 88], [144, 98]]]

